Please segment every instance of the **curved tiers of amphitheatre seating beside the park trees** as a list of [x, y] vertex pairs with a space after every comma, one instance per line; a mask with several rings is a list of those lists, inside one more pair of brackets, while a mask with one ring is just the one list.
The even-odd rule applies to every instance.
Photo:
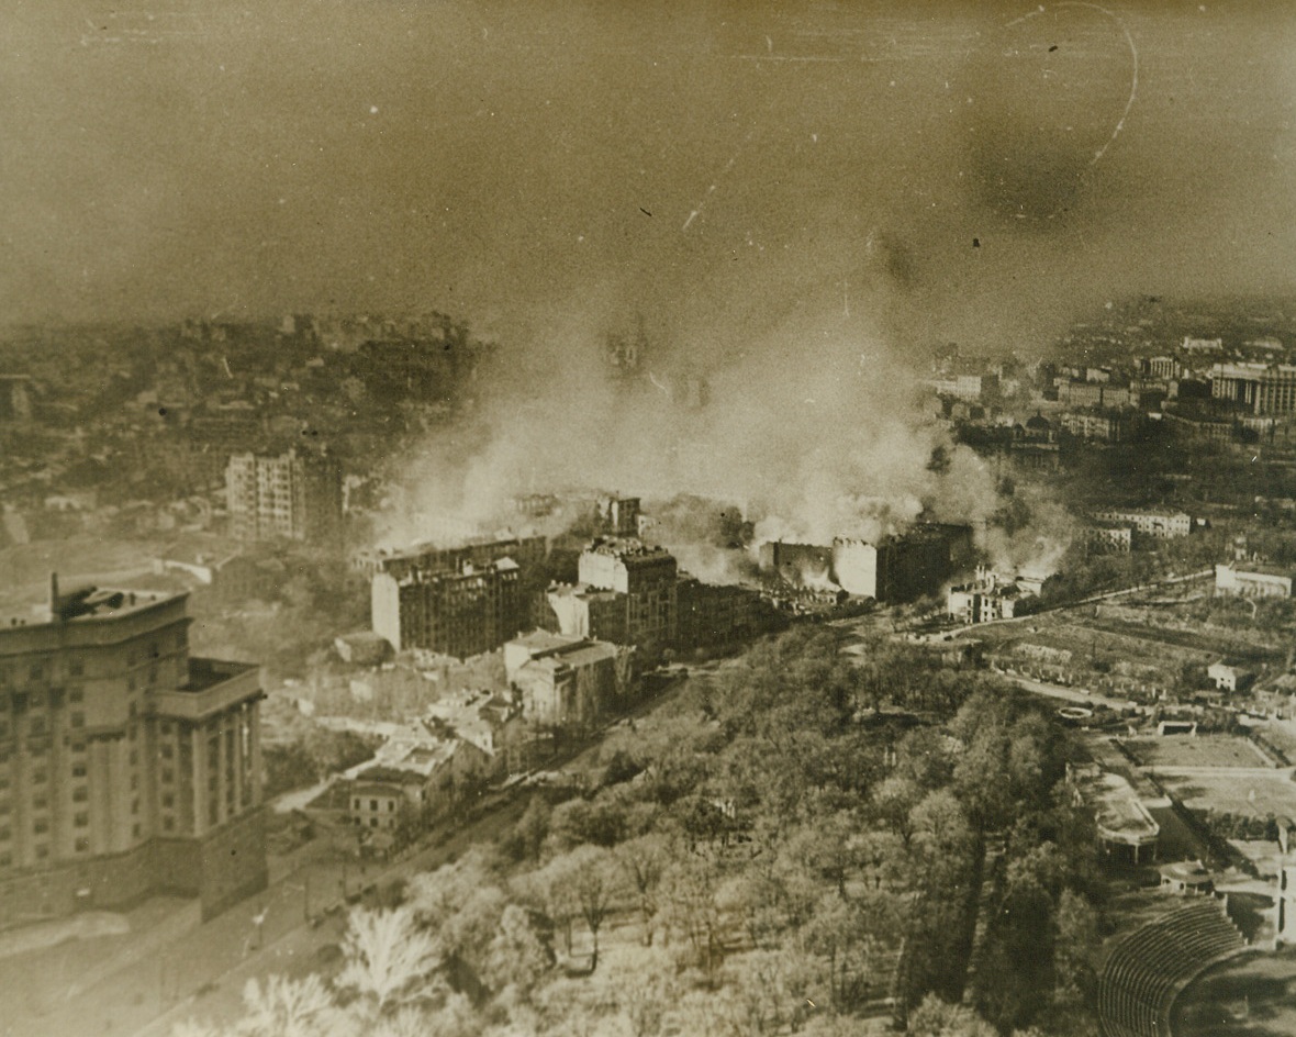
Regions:
[[1170, 1003], [1198, 972], [1245, 946], [1222, 905], [1208, 898], [1122, 940], [1098, 980], [1107, 1037], [1166, 1037]]

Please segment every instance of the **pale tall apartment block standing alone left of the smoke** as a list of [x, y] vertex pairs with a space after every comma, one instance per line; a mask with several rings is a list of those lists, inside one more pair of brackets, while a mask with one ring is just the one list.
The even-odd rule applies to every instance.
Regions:
[[342, 471], [329, 454], [235, 454], [226, 493], [236, 539], [327, 541], [341, 528]]

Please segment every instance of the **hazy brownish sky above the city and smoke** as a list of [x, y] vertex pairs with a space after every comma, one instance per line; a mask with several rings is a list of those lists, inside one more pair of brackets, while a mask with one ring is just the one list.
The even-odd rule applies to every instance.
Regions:
[[1290, 4], [6, 8], [9, 320], [644, 312], [741, 351], [851, 307], [1023, 346], [1296, 270]]

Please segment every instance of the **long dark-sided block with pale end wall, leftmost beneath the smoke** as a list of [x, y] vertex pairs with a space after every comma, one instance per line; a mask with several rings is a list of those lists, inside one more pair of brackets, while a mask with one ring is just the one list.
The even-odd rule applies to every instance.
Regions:
[[526, 620], [521, 569], [508, 557], [403, 576], [378, 572], [369, 586], [373, 631], [398, 652], [426, 648], [467, 658], [499, 648]]

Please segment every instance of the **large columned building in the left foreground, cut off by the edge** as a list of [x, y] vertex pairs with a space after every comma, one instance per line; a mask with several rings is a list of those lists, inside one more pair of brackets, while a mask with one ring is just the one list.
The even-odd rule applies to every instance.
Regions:
[[187, 595], [53, 582], [0, 626], [0, 926], [264, 888], [258, 668], [189, 656]]

